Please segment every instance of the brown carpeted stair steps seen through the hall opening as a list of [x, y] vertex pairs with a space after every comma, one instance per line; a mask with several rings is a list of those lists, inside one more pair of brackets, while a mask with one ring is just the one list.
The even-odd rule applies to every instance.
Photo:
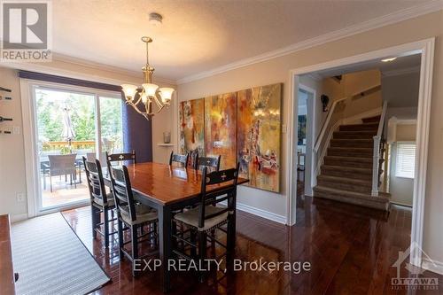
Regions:
[[[317, 176], [315, 197], [389, 210], [388, 194], [371, 196], [373, 136], [377, 135], [379, 120], [380, 116], [365, 118], [361, 124], [341, 125], [333, 133], [320, 175]], [[380, 164], [383, 161], [380, 159]], [[378, 175], [382, 172], [379, 169]]]

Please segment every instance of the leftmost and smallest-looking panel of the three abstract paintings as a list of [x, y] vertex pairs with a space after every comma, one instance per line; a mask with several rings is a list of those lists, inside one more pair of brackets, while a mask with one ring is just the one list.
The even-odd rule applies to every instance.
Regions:
[[205, 155], [205, 99], [194, 99], [180, 103], [180, 152], [198, 151]]

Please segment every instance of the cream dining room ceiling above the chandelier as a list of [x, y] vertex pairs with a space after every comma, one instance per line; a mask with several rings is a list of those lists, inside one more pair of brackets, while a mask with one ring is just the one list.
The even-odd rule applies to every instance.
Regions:
[[179, 80], [429, 2], [58, 0], [53, 52], [140, 72], [149, 35], [156, 74]]

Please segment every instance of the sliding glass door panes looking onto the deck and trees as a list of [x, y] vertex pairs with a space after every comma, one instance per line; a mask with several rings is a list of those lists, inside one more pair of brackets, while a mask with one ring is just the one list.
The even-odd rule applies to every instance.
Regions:
[[123, 151], [122, 101], [118, 93], [34, 86], [38, 210], [89, 202], [82, 157]]

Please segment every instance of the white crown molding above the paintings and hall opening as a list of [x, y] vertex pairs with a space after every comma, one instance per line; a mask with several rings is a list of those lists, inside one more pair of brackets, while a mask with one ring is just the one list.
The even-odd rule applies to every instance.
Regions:
[[442, 9], [443, 9], [443, 1], [441, 0], [434, 0], [429, 3], [416, 5], [413, 7], [409, 7], [408, 9], [401, 10], [399, 12], [392, 12], [382, 17], [369, 19], [354, 26], [345, 27], [324, 35], [319, 35], [314, 38], [307, 39], [299, 43], [294, 43], [278, 50], [268, 51], [266, 53], [257, 55], [252, 58], [241, 59], [236, 62], [227, 64], [225, 66], [219, 66], [212, 70], [205, 71], [202, 73], [192, 74], [190, 76], [177, 80], [177, 84], [184, 84], [188, 82], [197, 81], [206, 77], [213, 76], [215, 74], [221, 74], [240, 67], [250, 66], [272, 58], [279, 58], [299, 50], [306, 50], [308, 48], [319, 46], [324, 43], [337, 41], [347, 36], [361, 34], [363, 32], [367, 32], [369, 30], [378, 27], [385, 27], [406, 19], [413, 19], [419, 17], [427, 13], [438, 12], [439, 10]]

